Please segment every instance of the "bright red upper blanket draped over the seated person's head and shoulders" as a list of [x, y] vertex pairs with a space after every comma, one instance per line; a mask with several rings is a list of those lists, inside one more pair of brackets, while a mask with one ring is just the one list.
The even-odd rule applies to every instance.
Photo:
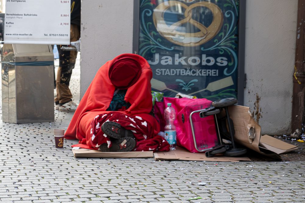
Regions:
[[113, 60], [107, 61], [101, 68], [99, 68], [86, 93], [81, 99], [77, 110], [72, 117], [68, 129], [65, 133], [66, 139], [76, 139], [79, 132], [77, 127], [84, 113], [88, 111], [106, 111], [113, 98], [115, 87], [109, 80], [109, 68], [119, 58], [131, 57], [138, 61], [142, 68], [142, 73], [135, 84], [127, 89], [125, 101], [131, 104], [125, 113], [126, 114], [149, 114], [152, 109], [152, 95], [151, 84], [152, 70], [148, 62], [140, 55], [136, 54], [121, 54]]

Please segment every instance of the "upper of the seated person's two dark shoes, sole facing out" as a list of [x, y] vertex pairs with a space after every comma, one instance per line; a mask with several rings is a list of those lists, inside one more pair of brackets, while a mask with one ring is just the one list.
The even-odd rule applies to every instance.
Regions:
[[107, 121], [102, 124], [102, 131], [111, 138], [134, 138], [134, 135], [130, 130], [126, 130], [119, 123], [113, 121]]

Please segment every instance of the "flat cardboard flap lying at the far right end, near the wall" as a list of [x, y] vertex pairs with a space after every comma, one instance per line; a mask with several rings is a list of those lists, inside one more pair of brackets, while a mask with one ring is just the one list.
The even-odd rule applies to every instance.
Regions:
[[282, 154], [298, 149], [298, 147], [295, 145], [283, 142], [282, 140], [271, 137], [269, 135], [263, 135], [260, 137], [260, 146], [277, 154]]

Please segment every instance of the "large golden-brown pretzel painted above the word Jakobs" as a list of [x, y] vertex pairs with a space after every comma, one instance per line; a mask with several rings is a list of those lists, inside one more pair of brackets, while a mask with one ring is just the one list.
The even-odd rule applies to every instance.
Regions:
[[[167, 11], [167, 9], [178, 5], [185, 9], [185, 18], [168, 26], [164, 20], [164, 13]], [[192, 9], [196, 7], [206, 7], [213, 13], [213, 21], [208, 27], [192, 19]], [[157, 31], [164, 38], [174, 44], [185, 47], [199, 46], [208, 42], [213, 37], [215, 37], [223, 24], [223, 14], [221, 9], [216, 4], [210, 2], [197, 2], [188, 6], [182, 2], [170, 0], [168, 2], [159, 4], [154, 9], [152, 17]], [[177, 31], [177, 28], [185, 23], [192, 24], [200, 31], [196, 33]]]

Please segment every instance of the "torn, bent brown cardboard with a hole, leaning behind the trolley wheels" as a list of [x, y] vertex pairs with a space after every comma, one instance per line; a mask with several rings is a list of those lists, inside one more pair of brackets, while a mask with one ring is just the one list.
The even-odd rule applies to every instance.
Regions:
[[269, 135], [261, 136], [261, 127], [254, 121], [249, 107], [230, 106], [229, 114], [234, 123], [235, 140], [247, 148], [275, 159], [281, 159], [280, 153], [297, 149], [297, 146]]

